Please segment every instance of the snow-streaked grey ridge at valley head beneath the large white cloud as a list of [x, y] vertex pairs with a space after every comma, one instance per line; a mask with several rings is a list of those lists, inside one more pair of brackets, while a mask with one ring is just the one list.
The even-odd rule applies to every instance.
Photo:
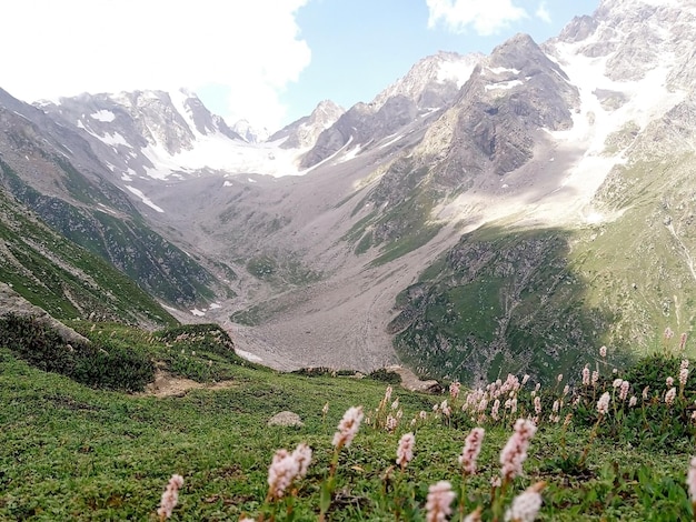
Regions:
[[81, 129], [125, 182], [185, 179], [213, 171], [298, 173], [298, 151], [250, 142], [248, 126], [238, 126], [245, 132], [240, 135], [186, 90], [82, 94], [40, 107], [62, 124]]

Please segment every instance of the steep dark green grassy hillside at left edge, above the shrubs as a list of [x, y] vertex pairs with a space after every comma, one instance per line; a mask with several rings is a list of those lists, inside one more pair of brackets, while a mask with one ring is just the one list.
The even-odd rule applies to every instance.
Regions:
[[151, 295], [0, 189], [0, 281], [57, 319], [177, 324]]

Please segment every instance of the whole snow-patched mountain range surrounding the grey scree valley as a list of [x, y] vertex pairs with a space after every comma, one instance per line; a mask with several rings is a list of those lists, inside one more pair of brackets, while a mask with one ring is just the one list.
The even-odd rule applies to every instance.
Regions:
[[693, 329], [695, 28], [694, 0], [605, 0], [260, 143], [186, 91], [3, 94], [3, 184], [275, 368], [576, 374]]

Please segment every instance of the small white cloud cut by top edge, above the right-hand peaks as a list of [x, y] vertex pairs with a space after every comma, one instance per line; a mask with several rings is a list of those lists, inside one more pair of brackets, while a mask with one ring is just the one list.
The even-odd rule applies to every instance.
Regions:
[[453, 32], [464, 32], [469, 26], [477, 34], [498, 33], [510, 22], [528, 18], [527, 11], [513, 0], [426, 0], [429, 10], [428, 27], [441, 20]]

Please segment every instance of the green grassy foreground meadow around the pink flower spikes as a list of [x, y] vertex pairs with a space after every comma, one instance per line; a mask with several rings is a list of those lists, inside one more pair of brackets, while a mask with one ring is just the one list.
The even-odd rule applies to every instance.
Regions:
[[[111, 339], [142, 353], [176, 352], [203, 362], [212, 360], [211, 347], [225, 343], [211, 342], [212, 330], [202, 330], [183, 327], [150, 335], [121, 325], [83, 329], [96, 342]], [[666, 349], [675, 345], [673, 340]], [[246, 514], [305, 521], [326, 511], [325, 520], [420, 521], [428, 488], [440, 480], [457, 494], [455, 513], [465, 491], [463, 510], [480, 505], [483, 520], [503, 520], [513, 498], [540, 481], [546, 485], [537, 520], [692, 516], [685, 479], [694, 446], [688, 404], [696, 381], [687, 375], [680, 387], [680, 360], [668, 352], [616, 374], [614, 354], [595, 355], [587, 362], [597, 369], [597, 380], [587, 385], [579, 384], [579, 375], [567, 375], [536, 391], [534, 382], [521, 385], [509, 377], [488, 387], [490, 395], [484, 390], [456, 394], [450, 388], [451, 394], [434, 396], [395, 387], [388, 400], [385, 382], [330, 372], [280, 374], [225, 359], [229, 353], [213, 360], [225, 369], [226, 389], [159, 399], [87, 388], [37, 370], [17, 353], [0, 349], [0, 520], [157, 520], [173, 473], [182, 475], [183, 486], [171, 520], [240, 520]], [[668, 404], [666, 375], [675, 379]], [[626, 399], [620, 399], [620, 385], [613, 388], [613, 378], [627, 381]], [[566, 392], [568, 379], [578, 384]], [[647, 382], [652, 388], [643, 399]], [[609, 403], [600, 413], [596, 403], [605, 391]], [[515, 396], [517, 411], [496, 406], [496, 392], [501, 399]], [[633, 395], [637, 404], [629, 406]], [[398, 404], [391, 404], [396, 399]], [[556, 401], [563, 404], [555, 410]], [[337, 451], [331, 444], [336, 426], [357, 405], [365, 419], [352, 443]], [[298, 413], [304, 425], [268, 426], [269, 418], [284, 410]], [[538, 429], [524, 473], [491, 490], [511, 425], [527, 416], [537, 416]], [[486, 430], [483, 448], [476, 473], [464, 475], [458, 455], [476, 425]], [[406, 432], [414, 432], [416, 442], [412, 460], [401, 469], [395, 459]], [[302, 442], [312, 450], [307, 475], [274, 500], [267, 482], [271, 456]]]

